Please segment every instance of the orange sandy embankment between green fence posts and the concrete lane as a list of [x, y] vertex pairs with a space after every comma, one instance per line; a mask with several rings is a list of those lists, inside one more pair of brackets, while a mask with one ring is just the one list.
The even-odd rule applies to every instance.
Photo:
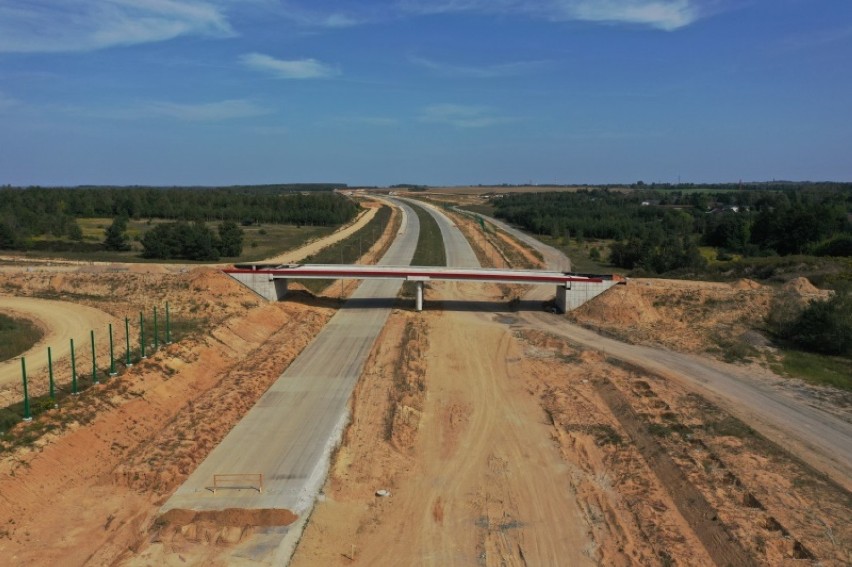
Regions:
[[[254, 308], [42, 416], [39, 425], [53, 432], [0, 461], [6, 564], [108, 565], [132, 553], [159, 504], [330, 313]], [[246, 358], [258, 364], [246, 368]]]

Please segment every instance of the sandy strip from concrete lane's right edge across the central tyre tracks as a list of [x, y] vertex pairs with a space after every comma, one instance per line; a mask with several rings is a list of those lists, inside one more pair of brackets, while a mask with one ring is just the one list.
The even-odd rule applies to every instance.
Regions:
[[393, 319], [293, 564], [592, 564], [511, 332], [464, 312]]

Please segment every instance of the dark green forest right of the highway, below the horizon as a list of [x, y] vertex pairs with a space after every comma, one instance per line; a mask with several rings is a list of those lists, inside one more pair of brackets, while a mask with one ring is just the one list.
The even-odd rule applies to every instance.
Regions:
[[495, 215], [535, 234], [614, 241], [615, 266], [661, 274], [720, 256], [852, 256], [852, 184], [766, 190], [580, 190], [492, 199]]

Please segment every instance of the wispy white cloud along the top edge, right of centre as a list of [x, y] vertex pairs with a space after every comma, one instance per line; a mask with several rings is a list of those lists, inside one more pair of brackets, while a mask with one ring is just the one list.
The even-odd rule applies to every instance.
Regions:
[[519, 13], [551, 21], [638, 24], [667, 31], [702, 16], [699, 0], [399, 0], [397, 9], [418, 15]]

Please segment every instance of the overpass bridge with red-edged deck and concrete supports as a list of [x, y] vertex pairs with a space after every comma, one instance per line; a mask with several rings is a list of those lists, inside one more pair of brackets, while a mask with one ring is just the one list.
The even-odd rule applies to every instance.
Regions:
[[578, 307], [613, 285], [625, 284], [620, 276], [575, 274], [544, 270], [503, 268], [447, 268], [436, 266], [375, 266], [363, 264], [237, 264], [223, 270], [269, 301], [287, 294], [291, 279], [392, 279], [416, 283], [416, 309], [423, 310], [424, 284], [428, 281], [467, 281], [556, 286], [556, 305], [565, 311]]

